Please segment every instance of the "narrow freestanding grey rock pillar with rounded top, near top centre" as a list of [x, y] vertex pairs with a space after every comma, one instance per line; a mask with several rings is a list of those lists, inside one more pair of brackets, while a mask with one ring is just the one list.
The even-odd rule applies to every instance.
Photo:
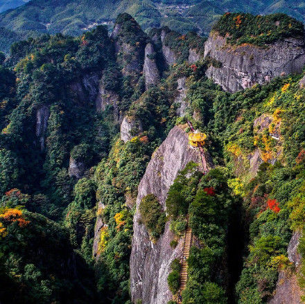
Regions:
[[152, 84], [157, 84], [160, 80], [159, 70], [157, 68], [157, 64], [154, 58], [150, 58], [155, 54], [155, 50], [153, 48], [153, 44], [146, 44], [145, 48], [145, 59], [143, 66], [143, 75], [145, 77], [145, 87], [146, 90]]

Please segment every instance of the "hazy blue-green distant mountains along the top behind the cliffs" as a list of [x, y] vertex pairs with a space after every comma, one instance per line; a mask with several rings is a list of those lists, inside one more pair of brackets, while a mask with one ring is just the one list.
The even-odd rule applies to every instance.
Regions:
[[300, 21], [304, 21], [305, 16], [304, 1], [301, 0], [33, 0], [24, 6], [3, 12], [0, 15], [0, 26], [23, 37], [37, 33], [80, 35], [84, 30], [98, 24], [105, 24], [112, 29], [116, 16], [121, 12], [128, 12], [144, 30], [168, 26], [180, 33], [195, 30], [200, 35], [208, 35], [211, 26], [227, 11], [262, 15], [284, 12]]

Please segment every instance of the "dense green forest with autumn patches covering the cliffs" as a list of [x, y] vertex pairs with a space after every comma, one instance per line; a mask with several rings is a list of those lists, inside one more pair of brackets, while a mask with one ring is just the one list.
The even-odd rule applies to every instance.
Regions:
[[[225, 15], [217, 30], [221, 35], [232, 30], [234, 43], [247, 38], [252, 44], [303, 33], [289, 17], [242, 16], [240, 22], [238, 15]], [[250, 37], [259, 18], [263, 18], [262, 28]], [[120, 15], [118, 24], [118, 39], [132, 50], [151, 42], [129, 15]], [[197, 164], [189, 163], [168, 192], [166, 213], [153, 195], [140, 204], [141, 220], [154, 242], [162, 235], [165, 221], [171, 221], [173, 248], [189, 215], [196, 246], [191, 249], [183, 303], [227, 303], [234, 297], [239, 303], [265, 303], [272, 296], [278, 271], [291, 267], [286, 253], [290, 236], [293, 230], [304, 229], [301, 75], [225, 93], [205, 76], [209, 64], [217, 62], [209, 58], [186, 62], [189, 48], [201, 50], [203, 40], [195, 33], [167, 34], [166, 46], [175, 51], [177, 64], [163, 71], [161, 83], [147, 91], [141, 71], [132, 75], [131, 82], [125, 66], [118, 64], [121, 58], [129, 64], [137, 56], [116, 55], [103, 26], [80, 37], [30, 38], [13, 44], [4, 62], [0, 55], [3, 303], [9, 303], [13, 294], [15, 303], [106, 299], [130, 304], [137, 187], [155, 149], [175, 124], [186, 119], [209, 134], [209, 154], [217, 167], [203, 176]], [[159, 60], [161, 45], [155, 47]], [[184, 118], [177, 117], [174, 102], [180, 78], [186, 78], [188, 88]], [[102, 85], [118, 97], [115, 105], [97, 112], [96, 95]], [[39, 115], [45, 116], [45, 129]], [[123, 143], [119, 121], [125, 115], [139, 120], [142, 129]], [[70, 158], [85, 167], [80, 179], [69, 175]], [[102, 222], [98, 228], [96, 216]], [[239, 233], [248, 231], [242, 271], [241, 249], [232, 253], [234, 240], [243, 239], [234, 226], [241, 220], [244, 230]], [[303, 239], [299, 250], [304, 252]], [[168, 277], [173, 293], [179, 267], [174, 262]], [[300, 275], [304, 284], [304, 266]]]

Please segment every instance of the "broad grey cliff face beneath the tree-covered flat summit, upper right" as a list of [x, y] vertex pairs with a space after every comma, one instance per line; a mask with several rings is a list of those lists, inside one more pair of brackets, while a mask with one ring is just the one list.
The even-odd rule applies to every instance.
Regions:
[[263, 84], [276, 76], [301, 73], [305, 64], [304, 39], [295, 38], [260, 48], [231, 46], [224, 37], [211, 33], [204, 46], [204, 57], [207, 55], [222, 63], [221, 68], [210, 66], [207, 77], [231, 92]]

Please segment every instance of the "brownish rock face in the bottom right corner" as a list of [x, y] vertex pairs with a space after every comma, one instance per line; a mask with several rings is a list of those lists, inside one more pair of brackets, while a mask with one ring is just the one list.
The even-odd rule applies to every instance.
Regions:
[[[288, 245], [288, 258], [290, 262], [295, 264], [295, 267], [298, 267], [301, 261], [301, 256], [297, 253], [300, 237], [301, 234], [299, 232], [293, 233], [293, 237]], [[297, 282], [297, 275], [280, 271], [275, 296], [273, 296], [268, 304], [302, 304], [301, 296], [303, 295], [304, 292]]]

